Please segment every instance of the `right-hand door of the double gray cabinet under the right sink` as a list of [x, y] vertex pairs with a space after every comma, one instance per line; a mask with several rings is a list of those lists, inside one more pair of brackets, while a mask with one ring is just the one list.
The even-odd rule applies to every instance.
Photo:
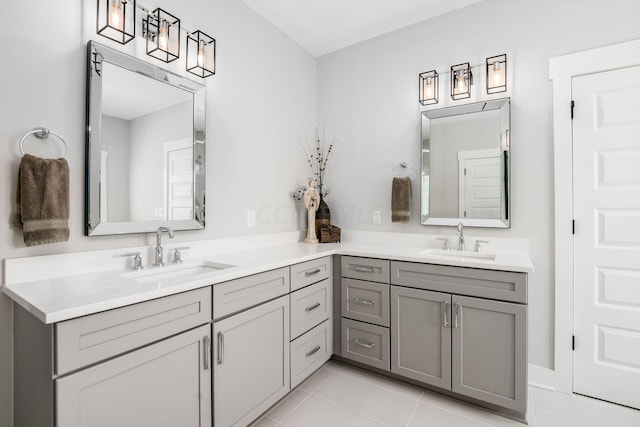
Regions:
[[525, 412], [526, 306], [454, 295], [451, 308], [452, 390]]

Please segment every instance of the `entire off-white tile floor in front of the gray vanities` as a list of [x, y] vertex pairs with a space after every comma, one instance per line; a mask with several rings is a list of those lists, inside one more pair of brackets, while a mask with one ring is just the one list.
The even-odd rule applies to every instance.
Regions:
[[[640, 391], [639, 391], [640, 392]], [[529, 388], [533, 427], [640, 427], [640, 411]], [[523, 427], [428, 390], [330, 361], [252, 427]]]

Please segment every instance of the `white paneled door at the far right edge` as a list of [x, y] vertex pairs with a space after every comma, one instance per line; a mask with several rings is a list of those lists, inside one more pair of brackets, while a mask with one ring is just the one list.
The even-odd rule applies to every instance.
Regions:
[[572, 93], [573, 388], [640, 409], [640, 67]]

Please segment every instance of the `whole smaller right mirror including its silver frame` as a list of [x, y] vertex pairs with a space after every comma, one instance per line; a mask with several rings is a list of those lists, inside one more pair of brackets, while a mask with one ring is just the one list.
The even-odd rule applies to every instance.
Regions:
[[509, 98], [422, 112], [423, 225], [509, 228]]

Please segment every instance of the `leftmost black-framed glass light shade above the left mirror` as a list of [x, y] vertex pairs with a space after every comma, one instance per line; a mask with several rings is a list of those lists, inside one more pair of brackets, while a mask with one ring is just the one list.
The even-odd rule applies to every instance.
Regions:
[[135, 0], [98, 0], [96, 32], [103, 37], [127, 44], [136, 36]]

